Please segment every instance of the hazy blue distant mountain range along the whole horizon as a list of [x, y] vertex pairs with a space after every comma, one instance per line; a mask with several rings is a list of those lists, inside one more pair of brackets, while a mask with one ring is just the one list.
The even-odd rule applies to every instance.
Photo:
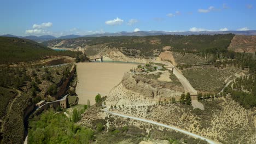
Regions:
[[53, 35], [28, 35], [28, 36], [17, 36], [11, 34], [0, 35], [0, 37], [15, 37], [22, 39], [30, 39], [42, 43], [43, 41], [53, 40], [53, 39], [74, 39], [79, 37], [110, 37], [110, 36], [148, 36], [148, 35], [199, 35], [199, 34], [228, 34], [233, 33], [236, 35], [256, 35], [256, 30], [251, 31], [202, 31], [202, 32], [167, 32], [167, 31], [139, 31], [139, 32], [117, 32], [117, 33], [101, 33], [101, 34], [91, 34], [91, 35], [65, 35], [61, 37], [54, 37]]

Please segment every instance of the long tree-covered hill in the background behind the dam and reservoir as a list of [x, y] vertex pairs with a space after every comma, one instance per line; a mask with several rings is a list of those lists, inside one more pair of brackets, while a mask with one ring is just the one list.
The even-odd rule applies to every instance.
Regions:
[[[42, 44], [51, 47], [86, 47], [106, 45], [110, 49], [117, 48], [127, 56], [154, 56], [162, 51], [162, 47], [171, 46], [172, 51], [216, 52], [227, 50], [234, 34], [217, 35], [154, 35], [147, 37], [81, 37], [75, 39], [59, 39], [45, 41]], [[94, 48], [94, 49], [96, 49]], [[100, 51], [100, 50], [97, 50]]]

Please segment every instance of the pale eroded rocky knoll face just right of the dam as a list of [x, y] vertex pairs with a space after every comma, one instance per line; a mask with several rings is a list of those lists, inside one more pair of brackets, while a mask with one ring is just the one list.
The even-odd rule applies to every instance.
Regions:
[[170, 100], [184, 92], [183, 87], [169, 82], [147, 79], [132, 73], [125, 73], [118, 86], [109, 92], [107, 105], [129, 105], [157, 103], [159, 100]]

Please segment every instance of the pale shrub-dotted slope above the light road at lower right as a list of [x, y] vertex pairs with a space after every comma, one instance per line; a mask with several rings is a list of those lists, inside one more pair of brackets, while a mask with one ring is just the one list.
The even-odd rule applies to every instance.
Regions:
[[255, 113], [231, 98], [203, 101], [205, 110], [183, 104], [118, 106], [114, 112], [174, 125], [221, 143], [255, 143]]

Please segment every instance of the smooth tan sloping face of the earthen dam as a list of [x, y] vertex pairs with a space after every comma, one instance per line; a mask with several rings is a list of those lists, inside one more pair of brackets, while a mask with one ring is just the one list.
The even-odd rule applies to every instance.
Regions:
[[95, 96], [98, 93], [107, 95], [121, 82], [126, 71], [136, 67], [136, 64], [126, 63], [78, 63], [78, 104], [87, 104], [88, 99], [91, 105], [95, 104]]

